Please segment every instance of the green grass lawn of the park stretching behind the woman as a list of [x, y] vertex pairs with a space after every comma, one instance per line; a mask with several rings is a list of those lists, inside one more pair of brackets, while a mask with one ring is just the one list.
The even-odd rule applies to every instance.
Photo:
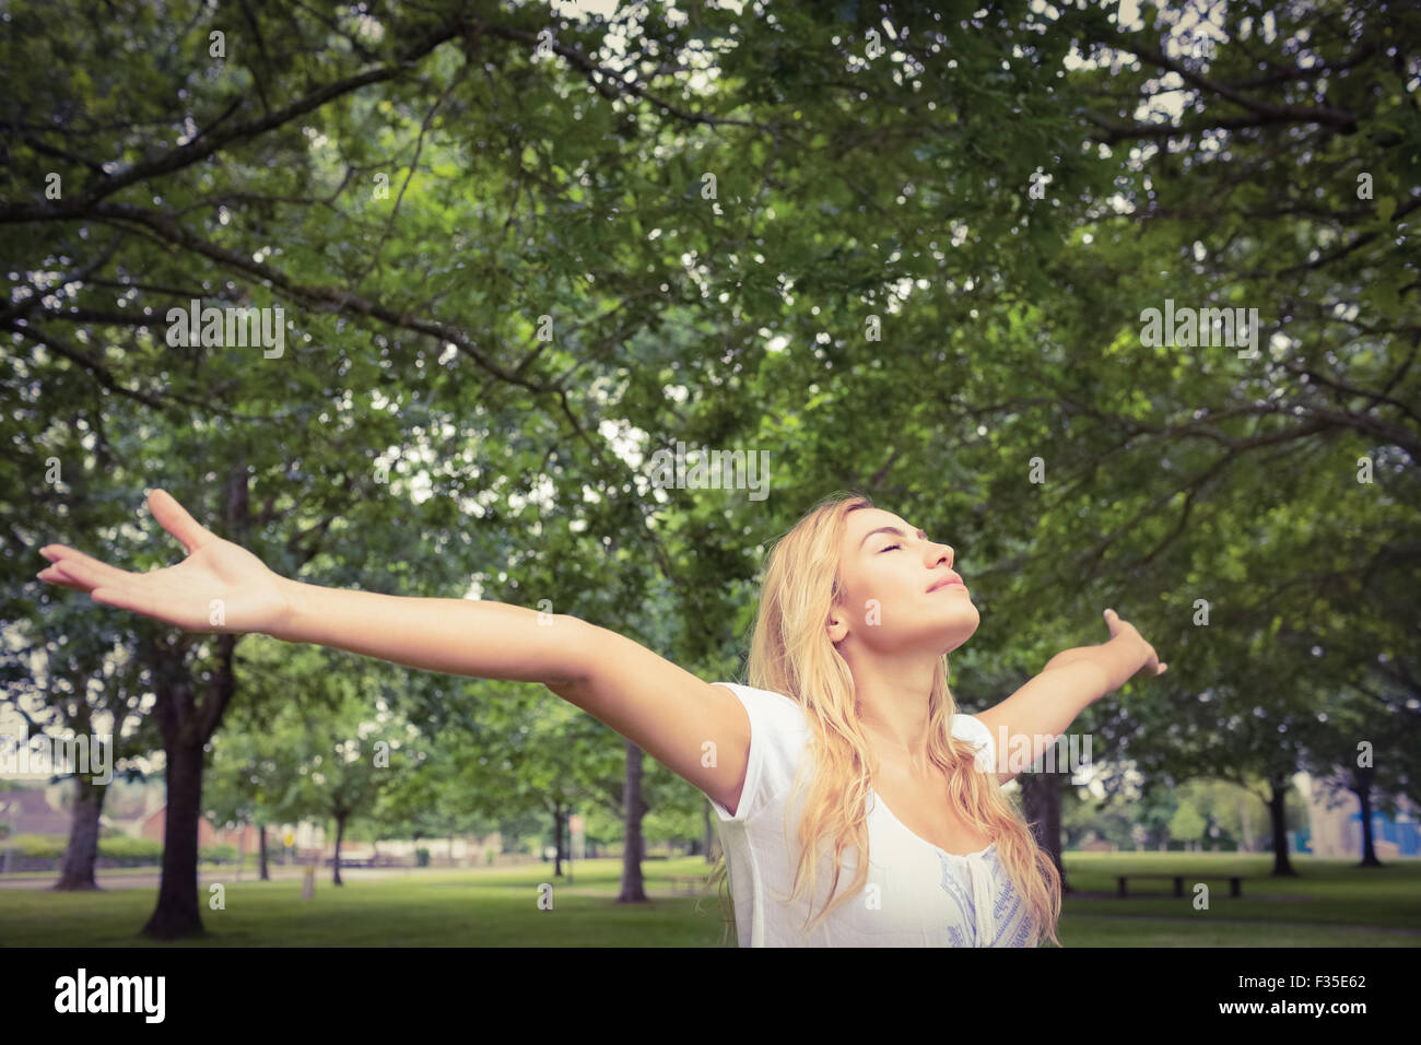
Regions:
[[[1250, 879], [1231, 900], [1211, 884], [1206, 911], [1172, 896], [1172, 883], [1141, 883], [1114, 899], [1120, 870], [1266, 876], [1266, 854], [1067, 853], [1070, 884], [1060, 940], [1067, 947], [1417, 947], [1421, 945], [1421, 860], [1358, 870], [1350, 860], [1299, 857], [1297, 879]], [[226, 910], [209, 910], [207, 936], [153, 944], [138, 936], [153, 890], [51, 893], [0, 889], [0, 947], [720, 947], [718, 897], [675, 894], [666, 876], [705, 872], [699, 857], [644, 864], [649, 904], [615, 903], [618, 860], [587, 860], [574, 884], [554, 883], [553, 910], [539, 910], [551, 864], [513, 869], [418, 870], [337, 889], [317, 876], [315, 899], [301, 883], [233, 881]], [[99, 880], [102, 880], [102, 874]], [[206, 877], [206, 873], [205, 873]], [[1130, 886], [1135, 893], [1134, 883]], [[1091, 893], [1110, 897], [1091, 897]], [[1397, 931], [1408, 930], [1408, 931]]]

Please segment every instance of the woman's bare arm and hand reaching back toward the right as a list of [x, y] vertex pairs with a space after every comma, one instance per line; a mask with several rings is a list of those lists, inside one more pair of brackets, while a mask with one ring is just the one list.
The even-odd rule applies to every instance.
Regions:
[[[1110, 641], [1079, 645], [1052, 657], [1042, 672], [996, 707], [976, 715], [992, 731], [996, 748], [996, 779], [1006, 783], [1066, 732], [1087, 707], [1113, 692], [1141, 671], [1148, 678], [1164, 674], [1161, 664], [1133, 624], [1106, 610]], [[1026, 736], [1026, 741], [1016, 739]], [[1030, 744], [1030, 762], [1025, 759]], [[1013, 749], [1023, 752], [1012, 759]], [[1023, 765], [1023, 762], [1026, 765]]]

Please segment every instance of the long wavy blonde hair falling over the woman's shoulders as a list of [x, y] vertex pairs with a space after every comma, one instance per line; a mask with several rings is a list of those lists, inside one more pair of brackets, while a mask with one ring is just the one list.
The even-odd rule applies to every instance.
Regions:
[[[833, 607], [843, 603], [844, 579], [840, 562], [850, 512], [872, 508], [860, 493], [834, 493], [817, 503], [799, 523], [774, 542], [764, 564], [760, 606], [746, 665], [747, 685], [783, 694], [800, 704], [814, 744], [814, 779], [799, 823], [799, 864], [791, 901], [816, 896], [818, 853], [833, 836], [834, 877], [830, 897], [838, 887], [844, 850], [853, 845], [865, 859], [837, 900], [826, 900], [820, 913], [806, 921], [813, 933], [847, 900], [858, 896], [868, 880], [868, 791], [872, 755], [857, 714], [854, 677], [830, 641], [824, 626]], [[1003, 869], [1020, 893], [1033, 921], [1033, 945], [1049, 938], [1056, 945], [1060, 918], [1060, 873], [1050, 856], [1036, 845], [1022, 812], [1002, 791], [993, 773], [976, 771], [976, 748], [952, 735], [956, 701], [948, 690], [948, 657], [932, 672], [928, 697], [928, 758], [948, 779], [944, 798], [969, 823], [995, 843]], [[804, 783], [800, 762], [794, 791]], [[725, 852], [716, 862], [710, 884], [728, 884]], [[726, 889], [720, 890], [726, 926], [733, 926], [733, 909]], [[811, 907], [811, 904], [810, 904]]]

